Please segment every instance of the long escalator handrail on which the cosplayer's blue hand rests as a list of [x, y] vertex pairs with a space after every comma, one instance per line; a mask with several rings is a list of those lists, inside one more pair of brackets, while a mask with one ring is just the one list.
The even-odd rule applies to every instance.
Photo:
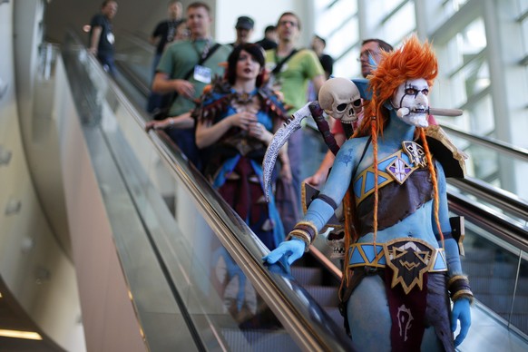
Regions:
[[[89, 56], [89, 60], [95, 63], [93, 57]], [[139, 112], [112, 80], [109, 80], [109, 90], [132, 118], [144, 128], [147, 120], [146, 115], [143, 116], [144, 112]], [[200, 172], [181, 152], [177, 150], [175, 152], [173, 148], [177, 149], [177, 147], [163, 140], [166, 134], [161, 131], [151, 131], [149, 135], [161, 160], [166, 161], [172, 173], [190, 191], [198, 204], [197, 208], [206, 214], [204, 219], [208, 220], [210, 228], [218, 234], [219, 240], [233, 259], [239, 264], [243, 263], [240, 264], [240, 268], [299, 347], [303, 350], [353, 350], [350, 339], [337, 332], [335, 323], [295, 279], [285, 273], [273, 273], [264, 266], [261, 258], [267, 254], [267, 249], [249, 230], [245, 222], [240, 220], [227, 203], [212, 190], [210, 183]]]

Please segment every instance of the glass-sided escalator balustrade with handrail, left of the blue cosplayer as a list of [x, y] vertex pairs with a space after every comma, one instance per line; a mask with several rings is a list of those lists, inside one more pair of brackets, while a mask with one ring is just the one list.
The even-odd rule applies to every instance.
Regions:
[[141, 110], [93, 57], [73, 38], [62, 56], [146, 347], [353, 350], [288, 270], [263, 266], [267, 250], [166, 136], [143, 131]]

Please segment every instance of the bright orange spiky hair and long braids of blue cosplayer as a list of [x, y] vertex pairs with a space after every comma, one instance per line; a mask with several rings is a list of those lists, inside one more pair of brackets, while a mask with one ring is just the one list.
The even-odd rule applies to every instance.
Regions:
[[[396, 92], [398, 86], [405, 83], [408, 80], [423, 78], [431, 87], [435, 81], [435, 77], [438, 73], [438, 64], [436, 61], [435, 53], [433, 52], [432, 45], [425, 41], [424, 44], [420, 44], [416, 35], [409, 37], [399, 49], [393, 52], [382, 52], [382, 58], [380, 63], [377, 65], [376, 70], [372, 72], [367, 78], [369, 80], [369, 89], [372, 91], [372, 100], [367, 103], [365, 108], [364, 119], [361, 125], [354, 133], [353, 137], [360, 136], [372, 136], [372, 145], [374, 153], [374, 170], [375, 170], [375, 181], [377, 185], [377, 136], [383, 136], [383, 130], [386, 127], [386, 123], [389, 118], [389, 111], [384, 104], [389, 101], [393, 94]], [[425, 142], [425, 134], [420, 132], [422, 129], [417, 128], [416, 133], [422, 134], [422, 141], [424, 143], [424, 150], [428, 162], [429, 171], [432, 174], [432, 181], [434, 183], [435, 190], [435, 221], [438, 230], [440, 231], [440, 237], [444, 242], [442, 231], [440, 230], [440, 222], [438, 217], [438, 185], [435, 175], [435, 167], [432, 163], [431, 153]], [[352, 184], [352, 183], [351, 183]], [[353, 200], [353, 189], [349, 187], [347, 191], [347, 200], [345, 206], [350, 207], [345, 211], [345, 220], [348, 222], [355, 222], [355, 206], [356, 203]], [[375, 186], [374, 192], [374, 245], [376, 246], [376, 231], [377, 231], [377, 187]], [[349, 201], [352, 200], [352, 201]], [[346, 226], [346, 229], [351, 228]], [[352, 226], [352, 228], [354, 228]], [[347, 233], [346, 248], [351, 242], [357, 240], [357, 233], [355, 230]], [[376, 247], [375, 247], [376, 248]], [[345, 262], [347, 263], [348, 250], [346, 251]], [[344, 278], [349, 279], [347, 275], [347, 265], [344, 266]]]

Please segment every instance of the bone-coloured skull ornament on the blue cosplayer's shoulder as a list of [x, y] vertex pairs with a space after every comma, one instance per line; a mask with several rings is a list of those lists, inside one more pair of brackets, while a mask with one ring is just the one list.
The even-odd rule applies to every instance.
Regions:
[[343, 123], [357, 121], [361, 111], [361, 97], [356, 84], [347, 78], [330, 78], [319, 90], [319, 106], [334, 119]]

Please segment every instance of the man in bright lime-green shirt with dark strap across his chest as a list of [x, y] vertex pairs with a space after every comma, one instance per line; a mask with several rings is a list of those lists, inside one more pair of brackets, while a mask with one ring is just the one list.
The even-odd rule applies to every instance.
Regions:
[[[279, 17], [277, 24], [279, 46], [266, 52], [266, 65], [270, 74], [273, 89], [279, 90], [284, 96], [284, 103], [288, 112], [293, 113], [307, 103], [308, 82], [312, 81], [316, 93], [325, 83], [325, 72], [319, 63], [317, 54], [308, 49], [296, 50], [295, 44], [300, 34], [300, 20], [298, 15], [286, 12]], [[286, 61], [284, 61], [286, 59]], [[279, 72], [274, 68], [284, 61]], [[300, 166], [303, 162], [301, 150], [302, 130], [293, 133], [288, 139], [288, 156], [291, 162], [293, 187], [300, 204]], [[309, 151], [307, 151], [309, 152]], [[295, 220], [297, 221], [297, 219]], [[287, 228], [285, 221], [285, 230]]]

